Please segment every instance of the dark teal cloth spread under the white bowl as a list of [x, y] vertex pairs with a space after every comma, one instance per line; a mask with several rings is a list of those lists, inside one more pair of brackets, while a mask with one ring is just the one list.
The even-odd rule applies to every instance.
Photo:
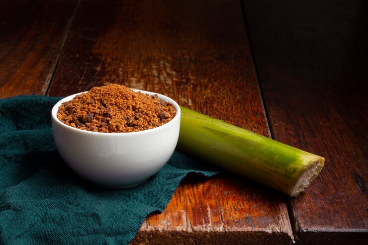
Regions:
[[0, 100], [0, 244], [127, 244], [144, 218], [162, 212], [189, 172], [216, 173], [175, 152], [148, 182], [129, 189], [95, 187], [60, 158], [51, 108], [61, 98]]

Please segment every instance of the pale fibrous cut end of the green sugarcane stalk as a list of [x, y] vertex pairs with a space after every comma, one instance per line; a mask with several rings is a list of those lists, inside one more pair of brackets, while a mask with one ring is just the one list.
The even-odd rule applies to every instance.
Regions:
[[289, 195], [291, 197], [296, 197], [300, 192], [305, 190], [309, 184], [317, 177], [321, 171], [325, 159], [320, 157], [319, 159], [313, 161], [304, 171], [302, 171], [300, 177], [296, 183], [290, 188]]

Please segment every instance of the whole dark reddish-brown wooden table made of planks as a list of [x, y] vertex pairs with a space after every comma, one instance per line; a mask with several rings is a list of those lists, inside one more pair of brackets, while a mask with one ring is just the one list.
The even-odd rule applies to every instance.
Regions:
[[2, 0], [0, 96], [120, 83], [326, 158], [297, 198], [186, 178], [132, 244], [368, 241], [367, 1]]

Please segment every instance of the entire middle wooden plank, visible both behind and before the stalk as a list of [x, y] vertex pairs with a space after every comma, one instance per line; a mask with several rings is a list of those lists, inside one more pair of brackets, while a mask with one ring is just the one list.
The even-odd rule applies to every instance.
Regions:
[[[83, 1], [49, 95], [121, 83], [270, 136], [236, 1]], [[230, 174], [184, 181], [133, 244], [290, 244], [280, 194]]]

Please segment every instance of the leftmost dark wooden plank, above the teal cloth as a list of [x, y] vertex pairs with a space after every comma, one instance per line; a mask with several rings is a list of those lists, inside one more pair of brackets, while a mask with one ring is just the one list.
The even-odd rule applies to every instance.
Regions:
[[0, 1], [0, 98], [46, 93], [78, 3]]

